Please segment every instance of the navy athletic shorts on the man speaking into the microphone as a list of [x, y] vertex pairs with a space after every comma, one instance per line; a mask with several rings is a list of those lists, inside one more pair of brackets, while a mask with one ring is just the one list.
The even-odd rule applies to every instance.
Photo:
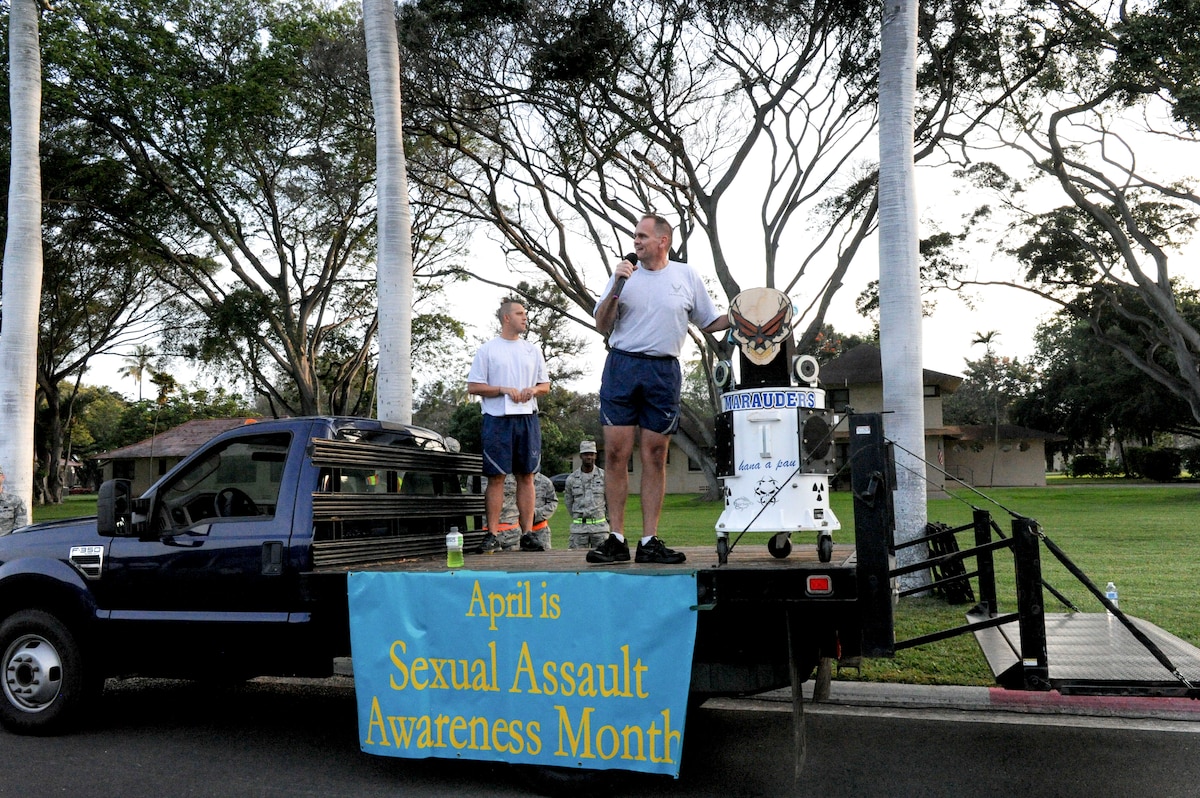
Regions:
[[677, 358], [611, 349], [600, 378], [600, 424], [673, 434], [679, 426], [682, 383]]

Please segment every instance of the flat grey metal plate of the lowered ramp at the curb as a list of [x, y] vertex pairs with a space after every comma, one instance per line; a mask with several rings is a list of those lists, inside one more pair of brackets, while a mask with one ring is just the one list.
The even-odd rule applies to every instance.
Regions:
[[[1148, 620], [1129, 619], [1186, 679], [1200, 683], [1200, 648]], [[1108, 613], [1048, 613], [1045, 629], [1049, 680], [1063, 695], [1188, 695], [1187, 685]], [[997, 683], [1021, 686], [1018, 624], [980, 629], [974, 634]]]

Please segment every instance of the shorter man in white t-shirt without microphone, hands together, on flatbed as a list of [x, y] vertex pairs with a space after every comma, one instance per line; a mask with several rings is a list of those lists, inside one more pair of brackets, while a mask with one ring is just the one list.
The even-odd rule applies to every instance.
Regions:
[[550, 391], [550, 373], [541, 349], [521, 337], [529, 329], [524, 306], [514, 299], [505, 299], [496, 316], [500, 320], [500, 335], [479, 348], [467, 374], [467, 392], [481, 397], [484, 409], [487, 534], [480, 551], [490, 552], [499, 547], [496, 532], [504, 506], [506, 474], [512, 474], [517, 484], [521, 548], [542, 551], [530, 528], [533, 475], [541, 467], [538, 397]]

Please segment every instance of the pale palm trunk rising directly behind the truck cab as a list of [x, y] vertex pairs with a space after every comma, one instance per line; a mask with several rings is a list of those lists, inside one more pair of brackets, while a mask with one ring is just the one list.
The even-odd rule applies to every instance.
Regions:
[[380, 419], [413, 420], [413, 222], [408, 206], [403, 118], [400, 103], [400, 44], [392, 0], [362, 0], [367, 72], [376, 118], [378, 202], [377, 284]]

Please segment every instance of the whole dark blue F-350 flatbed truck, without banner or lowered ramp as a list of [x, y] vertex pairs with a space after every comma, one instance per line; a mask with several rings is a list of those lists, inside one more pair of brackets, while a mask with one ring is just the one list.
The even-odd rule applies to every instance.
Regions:
[[[140, 497], [106, 482], [96, 517], [0, 536], [0, 725], [61, 732], [109, 677], [331, 674], [350, 654], [350, 571], [444, 569], [451, 527], [468, 551], [482, 538], [480, 456], [456, 449], [371, 419], [260, 421], [217, 436]], [[854, 655], [853, 548], [833, 563], [776, 557], [689, 552], [694, 696], [798, 684], [839, 646]], [[557, 548], [468, 556], [472, 568], [587, 566]]]

